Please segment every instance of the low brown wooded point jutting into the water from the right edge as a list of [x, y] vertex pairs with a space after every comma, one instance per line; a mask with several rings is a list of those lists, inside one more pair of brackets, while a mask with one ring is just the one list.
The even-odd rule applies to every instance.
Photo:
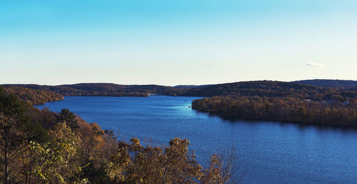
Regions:
[[192, 108], [222, 118], [279, 121], [316, 126], [357, 128], [357, 99], [345, 103], [303, 98], [212, 97], [192, 102]]

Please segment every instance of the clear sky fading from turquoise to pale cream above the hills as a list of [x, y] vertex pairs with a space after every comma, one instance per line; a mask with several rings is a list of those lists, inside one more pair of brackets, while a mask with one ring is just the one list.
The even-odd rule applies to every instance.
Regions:
[[357, 80], [356, 0], [0, 1], [0, 83]]

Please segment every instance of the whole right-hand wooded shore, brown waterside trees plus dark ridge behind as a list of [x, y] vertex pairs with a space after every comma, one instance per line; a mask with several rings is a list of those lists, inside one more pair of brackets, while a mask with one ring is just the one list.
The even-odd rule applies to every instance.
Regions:
[[357, 128], [357, 91], [279, 81], [225, 83], [195, 88], [192, 108], [222, 118]]

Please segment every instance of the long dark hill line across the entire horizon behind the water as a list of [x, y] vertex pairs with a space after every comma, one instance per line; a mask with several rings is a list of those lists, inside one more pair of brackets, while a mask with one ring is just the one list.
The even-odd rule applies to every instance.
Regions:
[[34, 84], [11, 84], [43, 91], [53, 91], [63, 96], [260, 96], [297, 97], [317, 101], [346, 101], [357, 97], [357, 91], [331, 87], [318, 87], [295, 82], [244, 81], [203, 86], [159, 86], [159, 85], [119, 85], [114, 83], [78, 83], [59, 86], [40, 86]]

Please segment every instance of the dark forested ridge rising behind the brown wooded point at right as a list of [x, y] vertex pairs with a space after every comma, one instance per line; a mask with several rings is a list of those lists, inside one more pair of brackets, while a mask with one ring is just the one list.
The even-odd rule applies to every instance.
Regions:
[[346, 101], [356, 98], [356, 91], [343, 91], [333, 88], [309, 86], [281, 81], [246, 81], [223, 83], [191, 88], [181, 96], [260, 96], [260, 97], [296, 97], [314, 101]]

